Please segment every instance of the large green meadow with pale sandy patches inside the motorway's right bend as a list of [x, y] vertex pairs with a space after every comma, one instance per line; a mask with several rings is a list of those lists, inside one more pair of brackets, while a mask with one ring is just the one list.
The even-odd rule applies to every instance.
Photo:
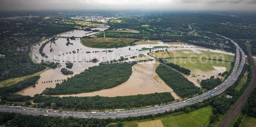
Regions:
[[[190, 75], [190, 77], [196, 80], [207, 79], [213, 75], [217, 76], [218, 73], [229, 71], [231, 69], [231, 62], [234, 61], [234, 56], [232, 55], [214, 53], [214, 52], [205, 51], [205, 50], [184, 49], [184, 50], [173, 50], [168, 52], [169, 54], [166, 51], [164, 51], [164, 52], [158, 52], [158, 53], [151, 53], [151, 55], [156, 56], [156, 58], [172, 57], [171, 59], [166, 59], [166, 61], [172, 62], [181, 67], [189, 69], [192, 74]], [[219, 59], [224, 59], [224, 60], [227, 60], [228, 62], [208, 60], [208, 58], [218, 59], [218, 56], [220, 56]], [[180, 58], [180, 57], [183, 57], [183, 58]]]

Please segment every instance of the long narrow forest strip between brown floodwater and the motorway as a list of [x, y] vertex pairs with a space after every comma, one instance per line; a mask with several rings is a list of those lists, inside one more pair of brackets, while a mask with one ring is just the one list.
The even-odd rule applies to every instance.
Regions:
[[174, 97], [169, 92], [154, 93], [154, 94], [138, 94], [130, 96], [116, 96], [116, 97], [53, 97], [35, 95], [33, 102], [41, 103], [39, 107], [51, 106], [51, 103], [55, 103], [54, 108], [64, 109], [118, 109], [125, 108], [130, 109], [134, 107], [153, 106], [160, 104], [167, 104], [174, 101]]

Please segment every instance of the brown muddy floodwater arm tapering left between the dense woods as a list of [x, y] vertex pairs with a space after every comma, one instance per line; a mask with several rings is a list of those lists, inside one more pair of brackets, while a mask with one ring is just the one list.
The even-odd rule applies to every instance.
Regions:
[[180, 99], [164, 81], [155, 73], [159, 65], [156, 61], [140, 62], [132, 67], [131, 77], [121, 85], [116, 87], [89, 93], [71, 94], [71, 95], [52, 95], [52, 96], [127, 96], [137, 94], [149, 94], [155, 92], [171, 92], [175, 99]]

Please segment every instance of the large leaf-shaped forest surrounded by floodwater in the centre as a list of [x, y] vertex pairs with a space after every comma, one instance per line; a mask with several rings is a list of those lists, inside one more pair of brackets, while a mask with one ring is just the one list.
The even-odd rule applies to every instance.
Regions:
[[132, 75], [132, 66], [136, 62], [101, 64], [89, 67], [74, 77], [57, 83], [55, 88], [44, 90], [46, 95], [77, 94], [104, 90], [118, 86]]

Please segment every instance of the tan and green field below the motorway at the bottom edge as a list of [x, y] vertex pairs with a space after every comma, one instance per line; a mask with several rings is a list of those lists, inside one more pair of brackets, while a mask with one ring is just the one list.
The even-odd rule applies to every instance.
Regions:
[[165, 127], [205, 127], [210, 121], [212, 115], [212, 107], [207, 106], [200, 108], [196, 111], [184, 113], [174, 116], [173, 113], [170, 117], [164, 117], [157, 120], [127, 123], [124, 126], [127, 127], [140, 127], [140, 126], [165, 126]]

